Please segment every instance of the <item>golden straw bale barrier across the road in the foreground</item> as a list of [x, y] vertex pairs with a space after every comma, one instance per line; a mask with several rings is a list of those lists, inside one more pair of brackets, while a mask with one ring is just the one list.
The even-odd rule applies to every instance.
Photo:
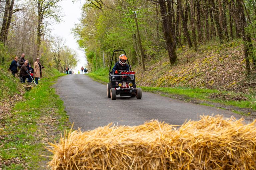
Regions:
[[202, 116], [180, 128], [140, 126], [75, 130], [51, 144], [53, 170], [256, 169], [255, 122]]

